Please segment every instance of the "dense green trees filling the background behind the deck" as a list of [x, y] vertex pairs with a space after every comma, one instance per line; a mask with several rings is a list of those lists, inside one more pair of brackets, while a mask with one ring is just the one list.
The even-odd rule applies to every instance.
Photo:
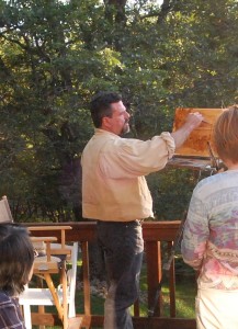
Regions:
[[[88, 102], [122, 93], [129, 137], [171, 131], [174, 110], [238, 101], [236, 0], [0, 0], [0, 195], [16, 220], [81, 220]], [[157, 219], [180, 218], [191, 171], [148, 177]]]

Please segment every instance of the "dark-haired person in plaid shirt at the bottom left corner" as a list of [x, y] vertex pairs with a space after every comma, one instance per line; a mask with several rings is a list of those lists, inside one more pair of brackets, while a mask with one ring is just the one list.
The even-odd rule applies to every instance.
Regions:
[[32, 277], [33, 262], [27, 229], [0, 224], [0, 329], [25, 329], [18, 296]]

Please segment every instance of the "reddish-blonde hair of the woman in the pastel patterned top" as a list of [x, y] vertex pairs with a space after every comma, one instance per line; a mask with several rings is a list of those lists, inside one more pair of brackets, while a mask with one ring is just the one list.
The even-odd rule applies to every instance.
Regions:
[[219, 158], [238, 163], [238, 105], [224, 110], [214, 125], [213, 135]]

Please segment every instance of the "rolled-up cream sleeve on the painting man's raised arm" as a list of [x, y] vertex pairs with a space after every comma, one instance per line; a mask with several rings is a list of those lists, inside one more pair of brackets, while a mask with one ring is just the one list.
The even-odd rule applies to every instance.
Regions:
[[174, 150], [174, 139], [166, 132], [146, 141], [117, 138], [103, 149], [100, 167], [103, 174], [113, 179], [147, 175], [165, 168]]

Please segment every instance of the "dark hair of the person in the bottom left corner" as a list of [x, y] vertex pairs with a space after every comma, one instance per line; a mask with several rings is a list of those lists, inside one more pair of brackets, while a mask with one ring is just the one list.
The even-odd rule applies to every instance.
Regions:
[[25, 227], [0, 224], [0, 290], [10, 296], [24, 291], [34, 262], [34, 248]]

